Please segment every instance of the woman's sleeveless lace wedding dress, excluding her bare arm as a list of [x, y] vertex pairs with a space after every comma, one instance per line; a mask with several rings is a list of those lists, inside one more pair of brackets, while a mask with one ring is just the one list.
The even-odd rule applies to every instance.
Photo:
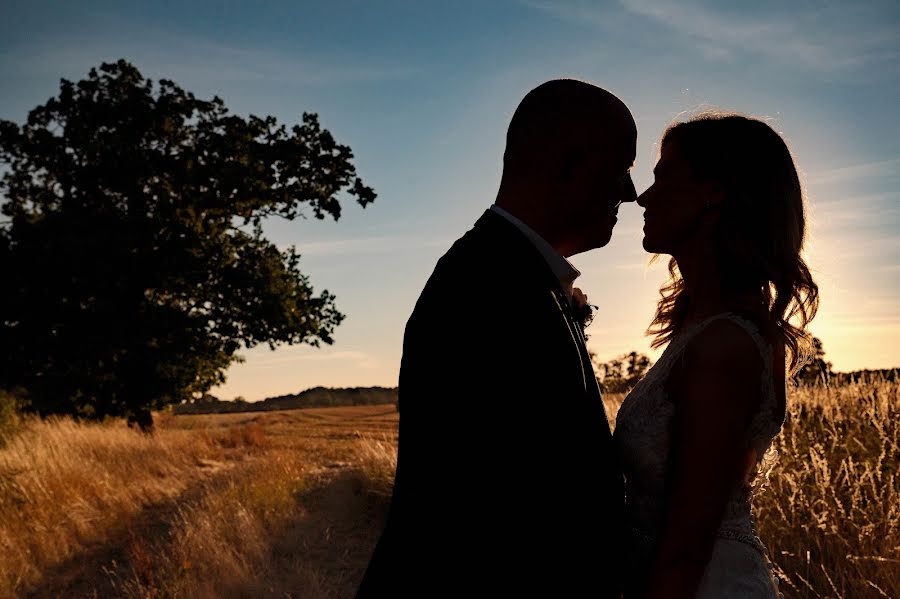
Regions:
[[756, 325], [732, 313], [713, 316], [679, 332], [657, 363], [625, 398], [616, 417], [613, 435], [625, 473], [626, 514], [629, 542], [625, 597], [640, 597], [646, 592], [650, 570], [663, 529], [665, 514], [666, 463], [668, 460], [672, 418], [675, 407], [666, 399], [665, 383], [672, 366], [694, 336], [711, 322], [730, 320], [743, 328], [763, 359], [763, 400], [748, 430], [748, 441], [757, 456], [766, 456], [757, 464], [750, 481], [737, 485], [728, 500], [725, 515], [716, 535], [712, 557], [697, 591], [702, 599], [779, 597], [766, 548], [756, 535], [750, 508], [750, 496], [758, 486], [769, 457], [766, 451], [781, 430], [777, 416], [772, 380], [772, 348]]

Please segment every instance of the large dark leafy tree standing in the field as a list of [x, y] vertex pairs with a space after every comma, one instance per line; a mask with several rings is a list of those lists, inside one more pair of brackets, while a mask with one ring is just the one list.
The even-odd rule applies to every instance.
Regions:
[[241, 346], [332, 343], [334, 296], [262, 223], [372, 202], [352, 157], [315, 114], [241, 118], [124, 60], [63, 79], [25, 124], [0, 121], [0, 387], [148, 428]]

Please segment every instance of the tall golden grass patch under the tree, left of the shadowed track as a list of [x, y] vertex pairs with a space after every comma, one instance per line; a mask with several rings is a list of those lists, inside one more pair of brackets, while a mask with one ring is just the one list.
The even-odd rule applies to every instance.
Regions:
[[207, 435], [27, 421], [0, 450], [0, 596], [77, 576], [70, 559], [121, 535], [145, 507], [176, 499], [219, 456]]

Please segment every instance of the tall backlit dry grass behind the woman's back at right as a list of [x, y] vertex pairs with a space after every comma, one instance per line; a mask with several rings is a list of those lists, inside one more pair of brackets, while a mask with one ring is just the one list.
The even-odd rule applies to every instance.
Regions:
[[900, 383], [792, 394], [759, 533], [792, 597], [900, 597]]

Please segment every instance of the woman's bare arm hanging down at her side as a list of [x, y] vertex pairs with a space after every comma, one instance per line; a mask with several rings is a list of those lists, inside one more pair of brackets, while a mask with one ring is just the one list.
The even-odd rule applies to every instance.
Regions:
[[729, 495], [746, 463], [746, 432], [762, 398], [762, 360], [738, 325], [717, 321], [668, 382], [675, 404], [666, 523], [648, 599], [693, 598]]

